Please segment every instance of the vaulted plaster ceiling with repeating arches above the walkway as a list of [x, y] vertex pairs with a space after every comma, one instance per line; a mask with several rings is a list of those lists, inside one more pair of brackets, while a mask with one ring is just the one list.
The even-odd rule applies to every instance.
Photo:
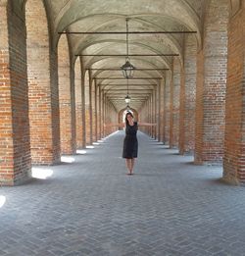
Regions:
[[[15, 0], [25, 5], [26, 0]], [[120, 110], [125, 106], [126, 80], [120, 67], [126, 53], [125, 18], [129, 18], [129, 31], [162, 31], [166, 33], [128, 34], [129, 54], [177, 56], [133, 56], [130, 62], [137, 69], [129, 80], [131, 107], [138, 110], [151, 95], [154, 86], [172, 69], [173, 58], [182, 63], [184, 36], [193, 37], [200, 47], [202, 17], [207, 0], [43, 0], [50, 27], [53, 30], [54, 46], [59, 43], [59, 32], [68, 34], [73, 62], [81, 57], [84, 72], [91, 69], [98, 86], [107, 89], [107, 96]], [[195, 33], [167, 33], [169, 31], [195, 31]], [[94, 32], [74, 34], [73, 32]], [[94, 55], [94, 56], [84, 56]], [[100, 56], [98, 56], [100, 55]], [[99, 70], [98, 70], [99, 69]], [[118, 70], [115, 70], [118, 69]], [[143, 70], [145, 69], [145, 70]], [[162, 70], [161, 70], [162, 69]], [[167, 71], [167, 70], [170, 71]], [[116, 78], [120, 79], [116, 79]], [[145, 77], [145, 78], [144, 78]]]

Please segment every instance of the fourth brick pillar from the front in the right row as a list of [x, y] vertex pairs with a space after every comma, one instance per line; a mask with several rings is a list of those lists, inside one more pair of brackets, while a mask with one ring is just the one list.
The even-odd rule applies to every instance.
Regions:
[[172, 66], [172, 87], [171, 87], [171, 137], [170, 147], [178, 146], [178, 128], [179, 128], [179, 90], [180, 90], [180, 62], [178, 59], [173, 59]]

